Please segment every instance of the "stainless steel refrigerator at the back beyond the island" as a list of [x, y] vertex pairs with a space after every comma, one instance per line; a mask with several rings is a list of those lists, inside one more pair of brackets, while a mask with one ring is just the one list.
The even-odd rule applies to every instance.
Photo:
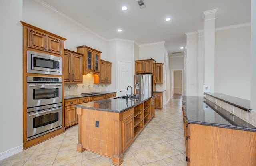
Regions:
[[153, 95], [153, 76], [152, 74], [135, 75], [135, 89], [136, 96], [140, 95], [144, 99]]

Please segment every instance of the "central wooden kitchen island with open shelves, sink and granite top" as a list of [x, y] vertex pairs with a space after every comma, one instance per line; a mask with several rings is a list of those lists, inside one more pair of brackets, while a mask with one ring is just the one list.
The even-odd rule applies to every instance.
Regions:
[[154, 96], [116, 97], [75, 106], [78, 114], [77, 152], [84, 150], [112, 158], [120, 166], [123, 153], [155, 117]]

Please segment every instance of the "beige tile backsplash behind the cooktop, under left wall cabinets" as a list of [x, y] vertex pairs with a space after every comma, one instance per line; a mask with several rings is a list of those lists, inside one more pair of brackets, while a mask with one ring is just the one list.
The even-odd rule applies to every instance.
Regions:
[[83, 75], [83, 83], [64, 84], [64, 95], [80, 95], [88, 92], [104, 92], [107, 91], [108, 84], [94, 84], [93, 74]]

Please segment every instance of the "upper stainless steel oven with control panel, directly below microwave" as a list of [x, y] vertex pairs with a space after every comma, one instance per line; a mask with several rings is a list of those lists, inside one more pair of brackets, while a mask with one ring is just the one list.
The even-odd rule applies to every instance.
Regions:
[[62, 103], [62, 78], [46, 76], [27, 77], [27, 107]]

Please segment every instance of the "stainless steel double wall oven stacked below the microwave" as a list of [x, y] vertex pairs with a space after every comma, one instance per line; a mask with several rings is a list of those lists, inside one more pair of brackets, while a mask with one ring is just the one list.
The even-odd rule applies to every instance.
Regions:
[[62, 128], [62, 78], [27, 77], [27, 140]]

